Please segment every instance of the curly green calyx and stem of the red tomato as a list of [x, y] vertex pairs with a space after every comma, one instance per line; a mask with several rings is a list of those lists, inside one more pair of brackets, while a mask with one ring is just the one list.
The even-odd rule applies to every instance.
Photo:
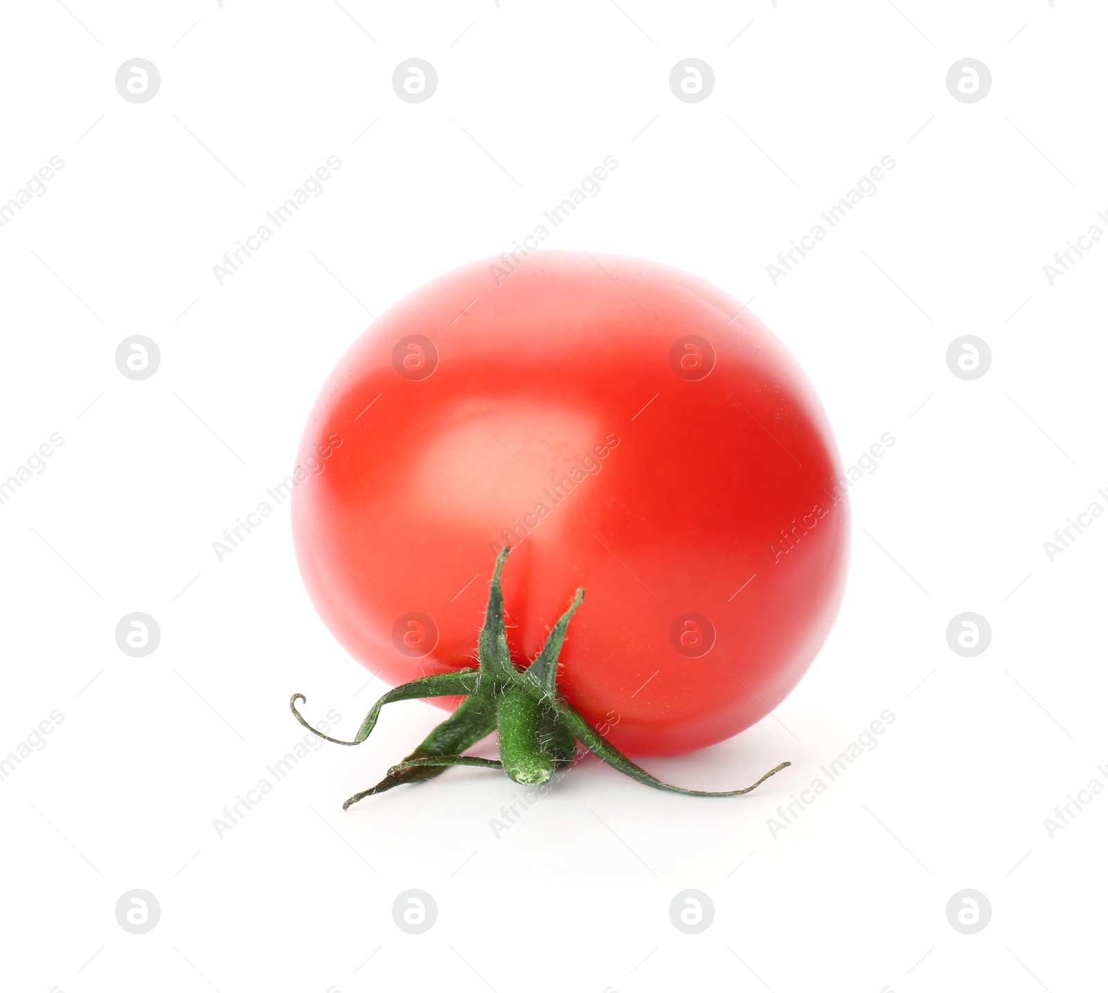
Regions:
[[[390, 689], [366, 715], [352, 741], [341, 741], [316, 730], [296, 708], [297, 703], [307, 703], [304, 695], [299, 693], [293, 695], [289, 707], [296, 719], [312, 734], [336, 745], [360, 745], [365, 741], [373, 730], [378, 715], [386, 704], [434, 696], [465, 697], [458, 709], [434, 728], [411, 755], [389, 769], [377, 786], [350, 797], [342, 805], [343, 810], [351, 803], [384, 792], [394, 786], [432, 779], [444, 772], [449, 766], [503, 769], [515, 782], [541, 786], [547, 782], [557, 769], [574, 761], [578, 741], [632, 779], [656, 789], [691, 797], [738, 797], [750, 792], [774, 772], [780, 772], [786, 766], [791, 765], [781, 762], [752, 786], [725, 792], [670, 786], [636, 766], [571, 707], [557, 688], [557, 658], [565, 642], [570, 621], [585, 598], [584, 590], [577, 590], [573, 603], [554, 625], [543, 651], [535, 661], [523, 670], [512, 663], [504, 633], [504, 595], [500, 585], [500, 573], [510, 552], [509, 546], [496, 556], [496, 567], [489, 590], [489, 607], [478, 641], [476, 668], [424, 676], [422, 679], [413, 679], [411, 683]], [[466, 748], [494, 730], [500, 738], [500, 761], [462, 755]]]

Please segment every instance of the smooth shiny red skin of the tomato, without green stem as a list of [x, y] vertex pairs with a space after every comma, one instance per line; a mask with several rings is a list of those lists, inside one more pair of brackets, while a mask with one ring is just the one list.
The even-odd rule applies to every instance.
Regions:
[[411, 294], [324, 387], [293, 494], [316, 608], [389, 683], [473, 665], [510, 540], [513, 658], [583, 586], [558, 686], [616, 747], [738, 734], [793, 689], [843, 595], [849, 505], [814, 391], [698, 277], [571, 252], [504, 272]]

